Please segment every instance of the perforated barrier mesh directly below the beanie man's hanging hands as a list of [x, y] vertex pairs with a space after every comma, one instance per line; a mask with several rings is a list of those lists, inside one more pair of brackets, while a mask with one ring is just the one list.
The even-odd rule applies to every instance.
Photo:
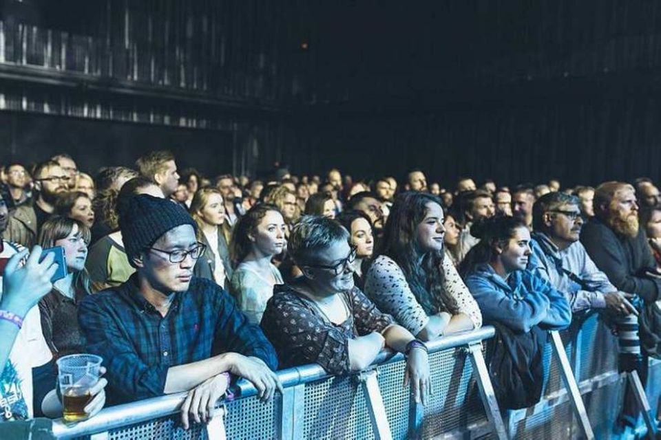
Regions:
[[276, 409], [280, 404], [280, 393], [268, 404], [262, 404], [257, 397], [229, 402], [225, 415], [227, 438], [275, 439], [278, 426]]

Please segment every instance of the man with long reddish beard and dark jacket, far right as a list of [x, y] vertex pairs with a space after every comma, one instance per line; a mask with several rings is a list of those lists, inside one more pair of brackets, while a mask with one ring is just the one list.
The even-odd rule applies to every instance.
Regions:
[[609, 181], [594, 192], [595, 217], [583, 227], [580, 241], [608, 279], [623, 292], [638, 294], [645, 302], [658, 300], [661, 278], [638, 227], [638, 203], [633, 186]]

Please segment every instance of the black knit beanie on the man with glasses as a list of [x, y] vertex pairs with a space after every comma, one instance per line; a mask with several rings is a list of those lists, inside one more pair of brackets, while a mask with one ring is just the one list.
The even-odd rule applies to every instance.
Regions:
[[129, 264], [136, 267], [133, 257], [149, 248], [165, 234], [180, 225], [191, 225], [197, 231], [190, 214], [178, 203], [147, 194], [130, 197], [122, 203], [119, 214], [119, 228], [122, 231], [124, 249]]

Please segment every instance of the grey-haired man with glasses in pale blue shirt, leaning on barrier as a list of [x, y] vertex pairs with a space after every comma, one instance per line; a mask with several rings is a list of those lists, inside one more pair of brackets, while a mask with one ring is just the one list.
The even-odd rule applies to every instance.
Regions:
[[578, 241], [583, 227], [579, 206], [578, 197], [564, 192], [549, 192], [535, 202], [531, 242], [535, 258], [528, 268], [563, 292], [574, 314], [605, 308], [631, 314], [627, 300], [631, 295], [611, 284]]

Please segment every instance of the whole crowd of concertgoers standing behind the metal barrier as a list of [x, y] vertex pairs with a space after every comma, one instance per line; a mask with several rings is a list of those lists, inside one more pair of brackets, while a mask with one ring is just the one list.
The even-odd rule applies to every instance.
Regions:
[[[385, 348], [405, 353], [404, 385], [424, 404], [425, 343], [483, 322], [536, 380], [494, 381], [505, 408], [539, 399], [547, 330], [593, 312], [618, 333], [622, 371], [646, 380], [645, 357], [661, 354], [650, 179], [443, 188], [421, 170], [354, 182], [284, 167], [209, 179], [167, 151], [93, 179], [65, 154], [0, 178], [4, 420], [58, 417], [54, 360], [71, 353], [103, 358], [88, 415], [185, 391], [186, 428], [238, 378], [269, 401], [278, 369], [359, 371]], [[41, 254], [54, 246], [66, 274], [51, 282]]]

